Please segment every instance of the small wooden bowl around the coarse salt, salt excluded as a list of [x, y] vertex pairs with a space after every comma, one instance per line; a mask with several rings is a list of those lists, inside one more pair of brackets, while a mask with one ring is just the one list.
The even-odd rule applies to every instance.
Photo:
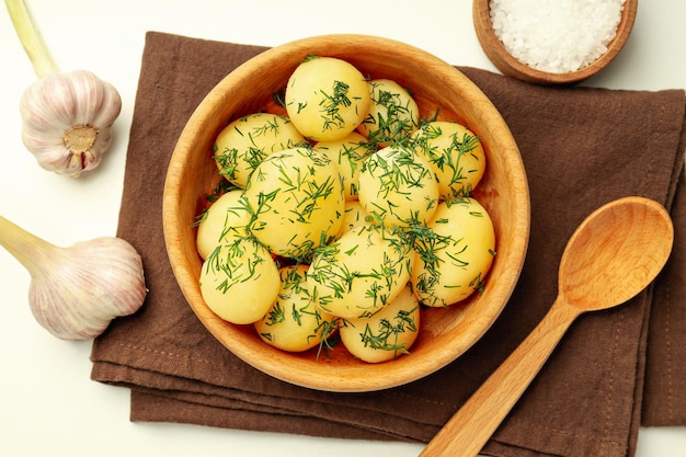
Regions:
[[576, 71], [553, 73], [531, 68], [514, 58], [505, 49], [505, 45], [493, 31], [490, 0], [475, 0], [472, 5], [477, 37], [495, 68], [502, 71], [503, 75], [544, 85], [573, 84], [592, 77], [607, 67], [627, 43], [633, 27], [637, 10], [638, 0], [626, 0], [615, 38], [608, 44], [607, 52], [593, 64]]

